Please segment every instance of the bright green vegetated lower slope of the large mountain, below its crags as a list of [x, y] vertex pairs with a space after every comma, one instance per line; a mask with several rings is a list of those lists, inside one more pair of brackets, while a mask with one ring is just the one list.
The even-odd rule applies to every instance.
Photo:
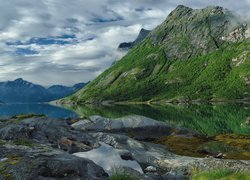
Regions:
[[[229, 43], [188, 60], [167, 60], [145, 40], [70, 101], [233, 100], [249, 97], [250, 43]], [[67, 101], [67, 99], [66, 99]]]

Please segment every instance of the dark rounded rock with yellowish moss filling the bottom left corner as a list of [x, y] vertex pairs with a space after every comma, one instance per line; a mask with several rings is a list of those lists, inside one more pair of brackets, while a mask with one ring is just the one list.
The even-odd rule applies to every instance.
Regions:
[[[92, 161], [63, 151], [0, 147], [0, 179], [107, 179], [105, 171]], [[2, 159], [2, 161], [1, 161]]]

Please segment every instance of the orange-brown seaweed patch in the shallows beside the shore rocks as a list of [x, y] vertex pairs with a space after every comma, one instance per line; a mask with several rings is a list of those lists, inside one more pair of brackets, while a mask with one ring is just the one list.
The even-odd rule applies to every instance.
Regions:
[[166, 145], [170, 151], [182, 156], [206, 157], [223, 153], [226, 159], [250, 160], [249, 141], [249, 136], [228, 134], [213, 138], [171, 135], [153, 142]]

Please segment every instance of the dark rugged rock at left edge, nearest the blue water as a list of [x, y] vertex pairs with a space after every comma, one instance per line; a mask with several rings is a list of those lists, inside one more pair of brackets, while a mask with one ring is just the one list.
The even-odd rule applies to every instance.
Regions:
[[[99, 146], [87, 133], [73, 130], [67, 120], [34, 117], [2, 121], [0, 139], [51, 144], [69, 153], [88, 151]], [[0, 124], [1, 125], [1, 124]]]

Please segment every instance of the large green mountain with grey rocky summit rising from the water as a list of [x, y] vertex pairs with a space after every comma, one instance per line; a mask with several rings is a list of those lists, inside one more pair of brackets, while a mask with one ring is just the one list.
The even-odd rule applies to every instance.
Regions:
[[250, 98], [250, 29], [222, 7], [178, 6], [126, 56], [61, 103]]

